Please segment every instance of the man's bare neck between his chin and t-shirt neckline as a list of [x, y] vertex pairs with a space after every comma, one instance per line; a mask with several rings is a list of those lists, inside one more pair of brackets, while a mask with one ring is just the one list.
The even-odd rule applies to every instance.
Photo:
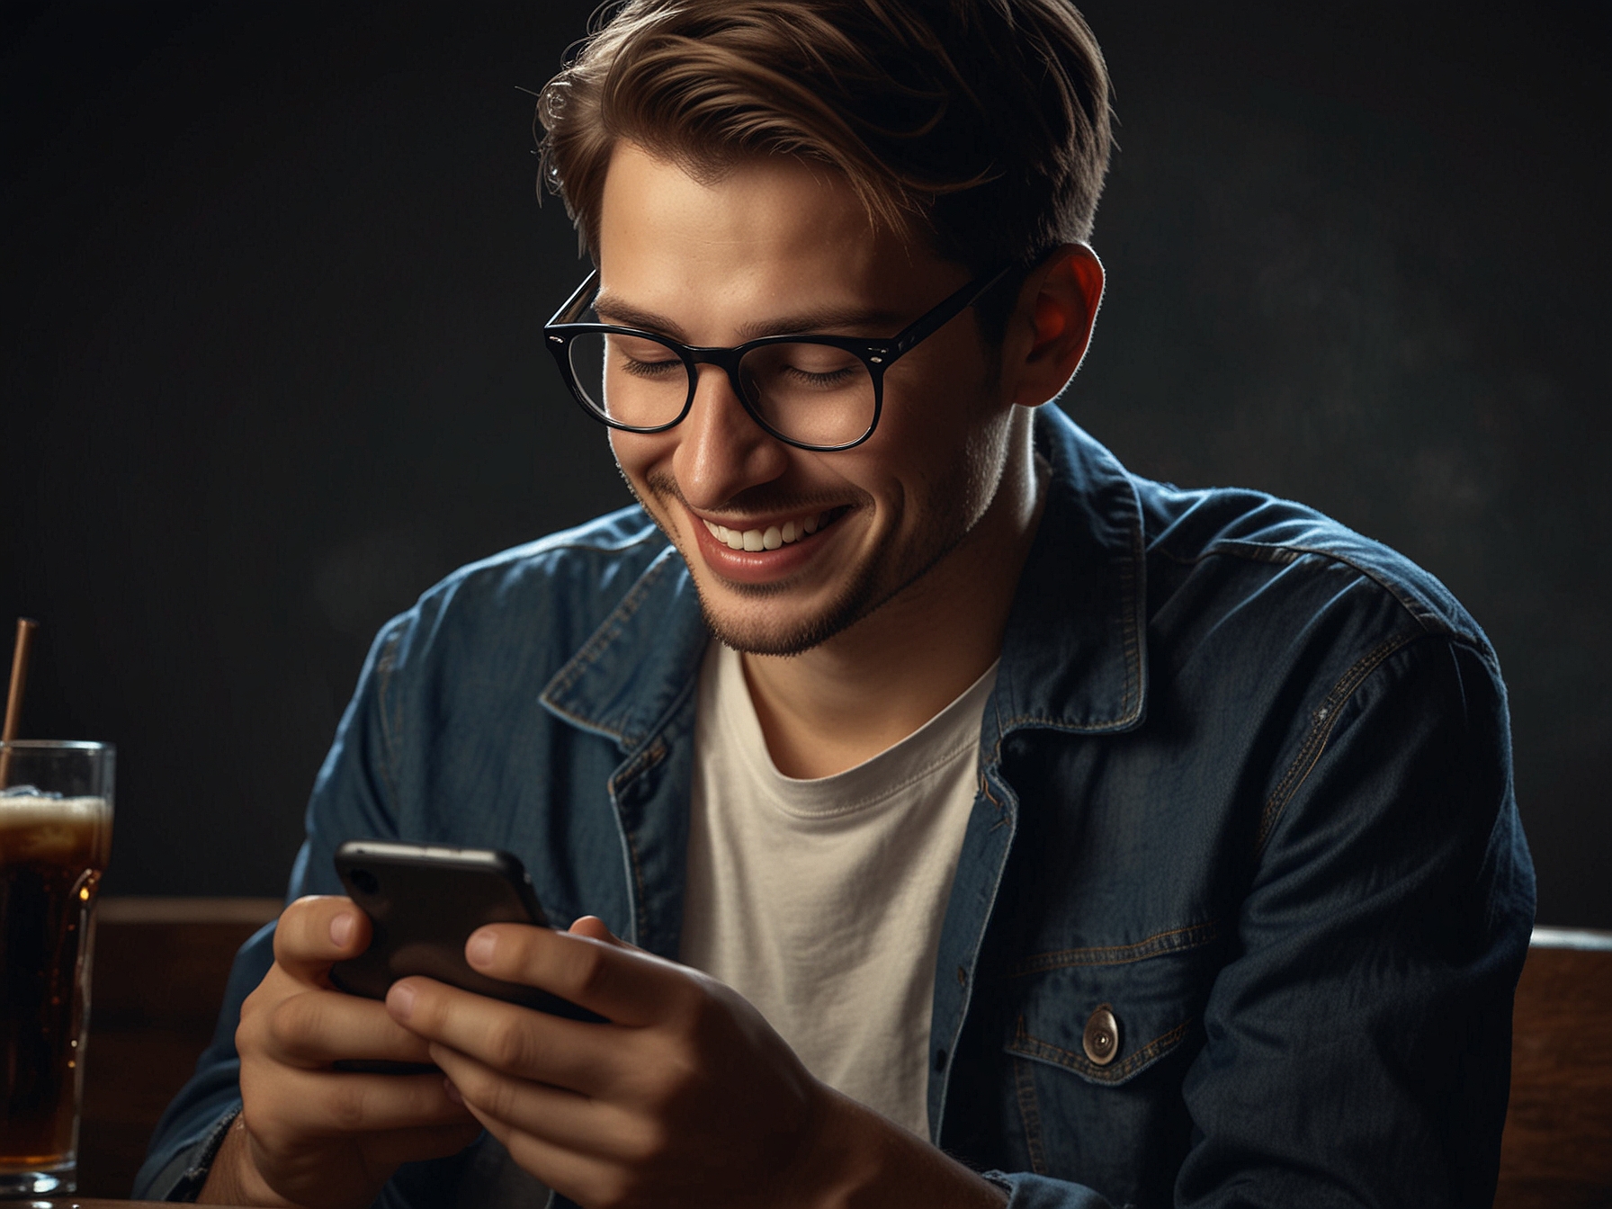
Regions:
[[782, 774], [829, 777], [877, 756], [945, 709], [1001, 654], [1046, 495], [1030, 414], [1019, 419], [990, 508], [940, 563], [804, 654], [743, 656]]

